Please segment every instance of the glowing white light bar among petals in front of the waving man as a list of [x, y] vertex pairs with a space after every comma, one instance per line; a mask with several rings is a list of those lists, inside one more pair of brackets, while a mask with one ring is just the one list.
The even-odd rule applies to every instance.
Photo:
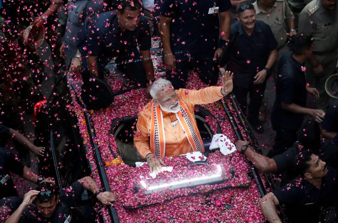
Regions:
[[205, 184], [220, 184], [227, 180], [227, 177], [222, 177], [222, 169], [219, 165], [217, 165], [218, 172], [216, 174], [208, 175], [208, 176], [201, 176], [190, 178], [186, 180], [176, 181], [165, 183], [161, 185], [151, 185], [147, 186], [145, 181], [140, 181], [142, 187], [144, 187], [147, 191], [145, 194], [151, 194], [153, 192], [162, 191], [163, 189], [177, 189], [177, 188], [186, 188], [186, 187], [197, 187], [199, 185]]

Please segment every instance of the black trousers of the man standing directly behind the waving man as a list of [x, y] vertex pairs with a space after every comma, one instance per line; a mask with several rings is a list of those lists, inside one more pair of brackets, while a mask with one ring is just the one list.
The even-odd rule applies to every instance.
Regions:
[[[197, 53], [196, 53], [197, 54]], [[208, 53], [210, 54], [210, 53]], [[188, 78], [188, 70], [193, 69], [198, 73], [199, 78], [206, 84], [215, 85], [218, 80], [219, 69], [212, 56], [175, 54], [176, 69], [167, 70], [167, 79], [171, 81], [174, 89], [185, 88]]]

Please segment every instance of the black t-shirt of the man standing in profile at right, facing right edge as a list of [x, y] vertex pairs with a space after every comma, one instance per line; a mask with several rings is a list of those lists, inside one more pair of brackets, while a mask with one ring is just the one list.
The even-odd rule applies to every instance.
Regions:
[[283, 54], [279, 61], [276, 85], [276, 100], [272, 108], [271, 124], [277, 129], [297, 130], [304, 115], [286, 111], [282, 102], [306, 107], [306, 76], [302, 64], [292, 57], [292, 52]]

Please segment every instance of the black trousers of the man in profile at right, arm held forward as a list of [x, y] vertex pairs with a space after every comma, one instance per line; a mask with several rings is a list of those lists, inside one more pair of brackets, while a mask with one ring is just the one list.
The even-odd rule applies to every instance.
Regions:
[[285, 152], [294, 144], [294, 142], [297, 141], [297, 130], [287, 130], [279, 128], [275, 128], [275, 130], [275, 144], [272, 146], [272, 149], [267, 155], [270, 158]]

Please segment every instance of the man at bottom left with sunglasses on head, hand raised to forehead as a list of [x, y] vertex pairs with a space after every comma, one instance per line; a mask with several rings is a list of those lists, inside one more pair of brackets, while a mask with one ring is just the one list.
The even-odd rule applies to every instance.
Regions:
[[[24, 195], [15, 212], [6, 212], [11, 215], [5, 223], [69, 223], [72, 218], [71, 207], [76, 206], [84, 190], [90, 191], [102, 205], [111, 205], [115, 201], [114, 194], [101, 191], [91, 177], [84, 177], [61, 191], [57, 190], [54, 183], [44, 181], [36, 190]], [[7, 201], [20, 202], [16, 198]]]

